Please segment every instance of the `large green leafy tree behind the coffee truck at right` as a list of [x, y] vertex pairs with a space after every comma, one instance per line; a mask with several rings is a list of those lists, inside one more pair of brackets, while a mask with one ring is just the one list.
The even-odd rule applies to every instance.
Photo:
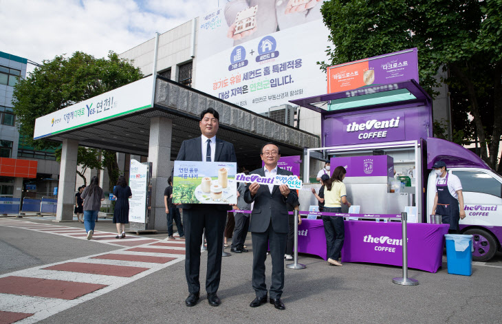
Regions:
[[502, 124], [500, 8], [502, 0], [325, 1], [321, 12], [334, 47], [328, 47], [331, 62], [322, 68], [417, 47], [420, 85], [435, 96], [435, 76], [448, 69], [450, 76], [440, 81], [467, 98], [481, 158], [495, 168]]

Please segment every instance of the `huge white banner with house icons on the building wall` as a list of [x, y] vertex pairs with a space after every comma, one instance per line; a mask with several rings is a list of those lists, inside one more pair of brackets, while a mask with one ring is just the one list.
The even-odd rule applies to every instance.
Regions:
[[229, 1], [201, 16], [195, 88], [257, 113], [318, 94], [329, 36], [323, 0], [301, 12], [291, 3]]

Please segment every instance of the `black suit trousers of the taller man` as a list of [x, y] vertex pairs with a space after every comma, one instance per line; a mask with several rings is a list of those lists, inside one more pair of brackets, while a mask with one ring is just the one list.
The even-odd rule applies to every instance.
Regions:
[[186, 249], [185, 275], [188, 292], [199, 292], [200, 290], [200, 249], [204, 230], [206, 230], [208, 244], [206, 292], [218, 291], [226, 215], [226, 210], [219, 210], [215, 206], [208, 205], [193, 206], [190, 209], [183, 210]]

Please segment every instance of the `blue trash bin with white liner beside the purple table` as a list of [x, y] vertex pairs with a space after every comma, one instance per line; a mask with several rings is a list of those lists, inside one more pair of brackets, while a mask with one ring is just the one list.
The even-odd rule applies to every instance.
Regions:
[[446, 259], [448, 273], [470, 276], [472, 274], [472, 235], [446, 234]]

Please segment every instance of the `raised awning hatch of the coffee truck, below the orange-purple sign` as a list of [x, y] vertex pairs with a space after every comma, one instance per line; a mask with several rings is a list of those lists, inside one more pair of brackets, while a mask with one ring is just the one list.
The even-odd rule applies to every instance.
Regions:
[[321, 94], [290, 102], [321, 114], [329, 114], [334, 111], [349, 111], [362, 107], [367, 109], [403, 104], [423, 105], [424, 102], [430, 104], [431, 99], [415, 80], [407, 80], [387, 85], [371, 85], [333, 94]]

